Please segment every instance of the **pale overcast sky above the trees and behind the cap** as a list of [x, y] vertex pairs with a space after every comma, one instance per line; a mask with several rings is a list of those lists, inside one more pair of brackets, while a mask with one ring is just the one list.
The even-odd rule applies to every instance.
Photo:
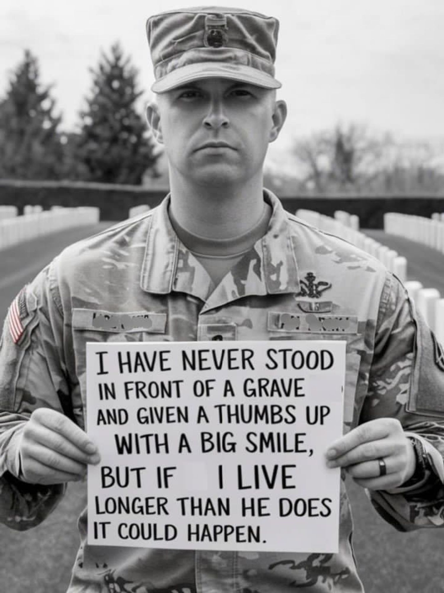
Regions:
[[[119, 40], [153, 82], [146, 18], [191, 0], [1, 0], [0, 97], [25, 48], [40, 61], [41, 81], [72, 129], [91, 84], [89, 66]], [[401, 138], [444, 138], [444, 0], [229, 0], [281, 21], [276, 78], [291, 138], [359, 122]]]

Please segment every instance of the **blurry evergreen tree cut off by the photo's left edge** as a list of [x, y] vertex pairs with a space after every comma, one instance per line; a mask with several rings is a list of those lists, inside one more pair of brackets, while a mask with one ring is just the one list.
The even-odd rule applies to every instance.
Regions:
[[64, 148], [57, 131], [51, 87], [43, 88], [38, 61], [29, 50], [9, 80], [0, 101], [0, 177], [57, 179]]

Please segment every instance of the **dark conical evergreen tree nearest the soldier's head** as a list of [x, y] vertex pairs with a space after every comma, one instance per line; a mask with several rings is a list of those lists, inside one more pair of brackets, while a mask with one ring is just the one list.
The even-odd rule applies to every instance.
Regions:
[[140, 184], [156, 160], [154, 143], [135, 103], [137, 69], [124, 58], [118, 43], [108, 57], [102, 52], [93, 76], [88, 109], [81, 111], [78, 159], [89, 171], [89, 180], [102, 183]]

